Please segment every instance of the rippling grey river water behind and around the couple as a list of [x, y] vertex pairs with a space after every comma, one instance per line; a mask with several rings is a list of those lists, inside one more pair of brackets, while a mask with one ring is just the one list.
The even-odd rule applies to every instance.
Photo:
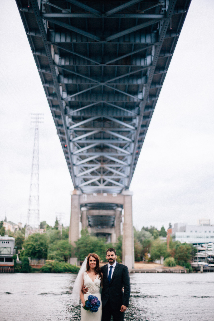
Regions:
[[[0, 273], [0, 321], [80, 321], [76, 274]], [[126, 321], [214, 320], [214, 273], [130, 274]]]

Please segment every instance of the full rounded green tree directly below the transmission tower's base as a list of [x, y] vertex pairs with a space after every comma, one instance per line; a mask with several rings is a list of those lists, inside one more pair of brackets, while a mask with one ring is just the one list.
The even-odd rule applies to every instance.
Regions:
[[30, 258], [47, 259], [48, 241], [46, 233], [34, 233], [23, 243], [24, 256]]

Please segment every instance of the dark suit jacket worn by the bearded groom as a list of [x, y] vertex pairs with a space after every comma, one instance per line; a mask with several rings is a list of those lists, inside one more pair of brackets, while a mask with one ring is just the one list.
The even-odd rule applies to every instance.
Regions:
[[120, 309], [122, 305], [128, 307], [131, 287], [127, 266], [116, 263], [110, 284], [107, 279], [108, 264], [101, 267], [101, 272], [103, 273], [102, 307], [106, 305], [108, 299], [112, 309]]

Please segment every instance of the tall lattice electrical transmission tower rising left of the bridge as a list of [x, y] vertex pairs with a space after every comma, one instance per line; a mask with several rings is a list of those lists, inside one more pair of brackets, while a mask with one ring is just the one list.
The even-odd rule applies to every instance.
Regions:
[[31, 123], [35, 124], [33, 161], [30, 178], [30, 194], [25, 238], [39, 232], [39, 123], [43, 123], [44, 114], [31, 114]]

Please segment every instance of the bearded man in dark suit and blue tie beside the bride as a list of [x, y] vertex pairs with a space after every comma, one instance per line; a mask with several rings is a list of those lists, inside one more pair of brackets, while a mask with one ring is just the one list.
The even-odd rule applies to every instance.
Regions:
[[[124, 312], [129, 305], [130, 279], [126, 265], [116, 262], [116, 250], [112, 247], [106, 251], [108, 264], [101, 267], [103, 273], [102, 321], [123, 321]], [[124, 288], [124, 291], [122, 290]], [[86, 293], [88, 290], [83, 289]]]

